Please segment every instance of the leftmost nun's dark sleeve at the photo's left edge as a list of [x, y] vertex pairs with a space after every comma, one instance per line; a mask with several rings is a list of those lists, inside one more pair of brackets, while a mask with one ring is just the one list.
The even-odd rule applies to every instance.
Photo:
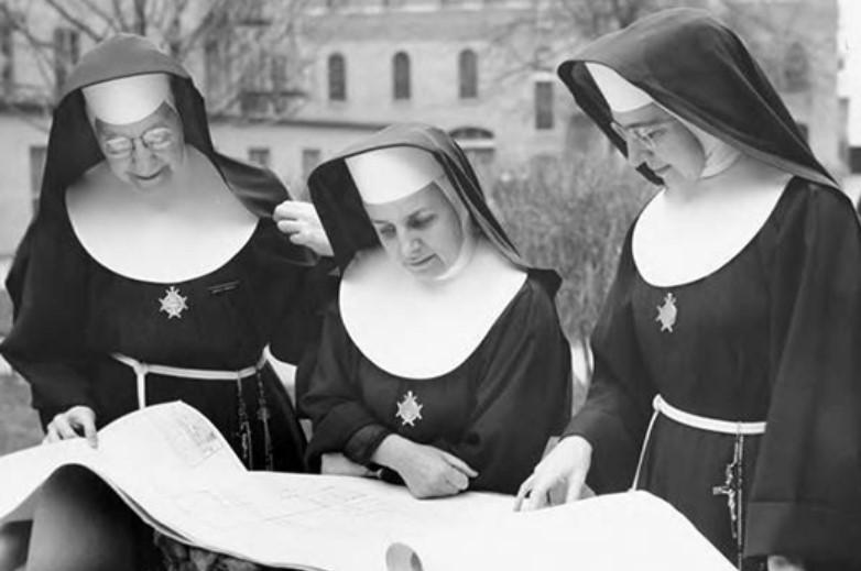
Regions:
[[14, 314], [0, 352], [30, 383], [33, 408], [45, 426], [72, 406], [96, 409], [96, 404], [81, 342], [86, 268], [72, 241], [40, 222], [28, 229], [7, 277]]

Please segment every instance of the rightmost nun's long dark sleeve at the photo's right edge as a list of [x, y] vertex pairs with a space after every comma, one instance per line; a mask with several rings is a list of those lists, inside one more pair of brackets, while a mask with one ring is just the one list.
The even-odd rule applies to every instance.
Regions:
[[748, 507], [748, 554], [858, 560], [861, 546], [861, 230], [809, 185], [773, 231], [773, 371]]

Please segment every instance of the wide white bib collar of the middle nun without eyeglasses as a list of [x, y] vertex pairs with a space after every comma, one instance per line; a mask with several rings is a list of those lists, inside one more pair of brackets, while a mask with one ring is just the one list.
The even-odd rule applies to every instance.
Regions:
[[360, 252], [340, 284], [344, 327], [380, 369], [405, 378], [433, 378], [455, 370], [526, 281], [486, 239], [470, 263], [443, 281], [418, 279], [382, 249]]

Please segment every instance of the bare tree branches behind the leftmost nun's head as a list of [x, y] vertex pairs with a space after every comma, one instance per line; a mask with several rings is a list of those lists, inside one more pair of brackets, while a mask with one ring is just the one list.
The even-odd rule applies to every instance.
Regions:
[[196, 72], [210, 113], [276, 118], [294, 113], [306, 96], [302, 78], [314, 53], [299, 37], [298, 23], [308, 2], [0, 0], [0, 24], [23, 39], [40, 70], [41, 86], [17, 86], [30, 103], [53, 102], [81, 44], [131, 32]]

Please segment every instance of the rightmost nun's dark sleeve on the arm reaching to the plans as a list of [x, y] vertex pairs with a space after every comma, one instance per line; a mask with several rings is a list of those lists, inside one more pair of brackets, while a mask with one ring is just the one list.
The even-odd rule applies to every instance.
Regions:
[[613, 285], [591, 337], [595, 372], [589, 394], [565, 429], [565, 436], [581, 436], [592, 446], [587, 483], [598, 493], [631, 486], [656, 394], [636, 341], [633, 279], [629, 230]]

